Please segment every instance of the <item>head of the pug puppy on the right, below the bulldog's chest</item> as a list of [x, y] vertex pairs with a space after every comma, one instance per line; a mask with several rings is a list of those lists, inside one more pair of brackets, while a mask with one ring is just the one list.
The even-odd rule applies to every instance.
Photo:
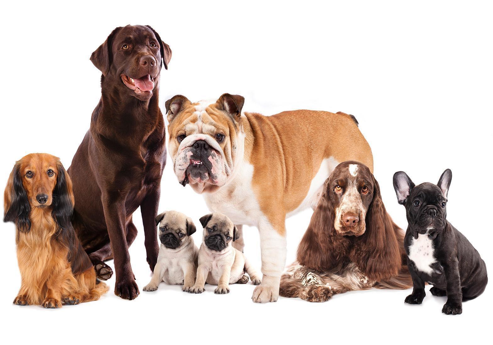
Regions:
[[203, 242], [210, 250], [221, 252], [239, 239], [236, 226], [222, 213], [206, 214], [200, 223], [204, 228]]

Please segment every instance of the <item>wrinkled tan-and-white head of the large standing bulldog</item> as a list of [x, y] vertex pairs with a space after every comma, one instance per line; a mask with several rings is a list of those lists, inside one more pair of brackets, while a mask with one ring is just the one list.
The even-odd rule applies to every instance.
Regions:
[[242, 96], [229, 94], [215, 102], [191, 103], [181, 95], [166, 102], [168, 150], [180, 184], [203, 193], [228, 181], [243, 160], [243, 103]]

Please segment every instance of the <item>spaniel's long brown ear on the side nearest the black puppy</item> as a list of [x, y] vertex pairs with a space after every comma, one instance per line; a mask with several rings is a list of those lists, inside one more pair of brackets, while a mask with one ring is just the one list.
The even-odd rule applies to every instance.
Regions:
[[385, 209], [375, 177], [373, 184], [373, 201], [365, 219], [366, 231], [351, 256], [366, 276], [378, 281], [396, 276], [402, 261], [394, 224]]

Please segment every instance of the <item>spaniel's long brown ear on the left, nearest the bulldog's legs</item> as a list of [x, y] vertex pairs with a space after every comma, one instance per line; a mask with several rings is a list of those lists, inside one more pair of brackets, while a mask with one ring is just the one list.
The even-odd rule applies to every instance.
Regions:
[[328, 271], [337, 267], [348, 254], [349, 240], [341, 236], [334, 228], [334, 207], [328, 193], [329, 179], [323, 186], [310, 225], [298, 246], [297, 260], [316, 271]]

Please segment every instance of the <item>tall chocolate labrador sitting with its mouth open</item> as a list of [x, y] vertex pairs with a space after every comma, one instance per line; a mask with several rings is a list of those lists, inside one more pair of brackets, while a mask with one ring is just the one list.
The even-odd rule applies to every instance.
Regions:
[[139, 288], [128, 247], [137, 236], [132, 214], [141, 207], [145, 250], [154, 270], [159, 247], [154, 218], [166, 164], [165, 125], [158, 105], [159, 75], [171, 49], [150, 26], [113, 30], [91, 55], [103, 72], [101, 100], [69, 168], [73, 226], [101, 279], [112, 270], [115, 294], [134, 299]]

